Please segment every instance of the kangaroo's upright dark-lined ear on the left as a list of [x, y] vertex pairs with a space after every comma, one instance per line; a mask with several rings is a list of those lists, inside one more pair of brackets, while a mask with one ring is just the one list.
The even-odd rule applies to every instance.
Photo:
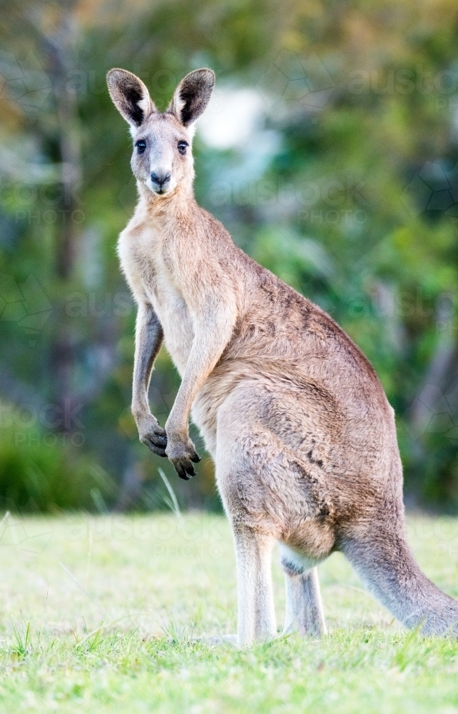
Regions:
[[113, 104], [131, 126], [137, 128], [149, 114], [156, 111], [141, 79], [126, 69], [111, 69], [106, 75], [106, 84]]

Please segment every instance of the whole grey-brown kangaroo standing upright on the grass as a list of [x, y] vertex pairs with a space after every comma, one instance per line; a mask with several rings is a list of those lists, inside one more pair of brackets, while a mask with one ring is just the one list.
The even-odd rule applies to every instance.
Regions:
[[[407, 627], [458, 634], [458, 603], [422, 573], [404, 528], [394, 411], [367, 358], [332, 318], [245, 255], [193, 196], [195, 121], [210, 69], [156, 109], [123, 69], [107, 76], [133, 136], [138, 204], [118, 254], [138, 305], [132, 412], [140, 440], [180, 478], [215, 462], [235, 543], [238, 643], [276, 634], [271, 554], [280, 544], [285, 633], [325, 633], [316, 565], [340, 550]], [[181, 376], [165, 428], [148, 406], [161, 344]]]

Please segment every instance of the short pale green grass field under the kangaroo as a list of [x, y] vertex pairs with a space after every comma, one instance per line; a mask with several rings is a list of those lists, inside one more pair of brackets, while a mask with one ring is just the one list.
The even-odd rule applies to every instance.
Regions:
[[[458, 597], [458, 519], [411, 517], [409, 540]], [[222, 517], [10, 515], [0, 553], [2, 713], [458, 712], [458, 644], [406, 633], [338, 554], [326, 638], [238, 649], [199, 640], [235, 631]]]

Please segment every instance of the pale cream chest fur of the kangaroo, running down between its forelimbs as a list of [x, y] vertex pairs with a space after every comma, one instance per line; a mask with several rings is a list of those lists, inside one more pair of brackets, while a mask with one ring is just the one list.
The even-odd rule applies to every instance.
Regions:
[[153, 228], [134, 233], [126, 229], [119, 238], [118, 254], [134, 296], [153, 306], [168, 353], [183, 374], [194, 338], [193, 320], [164, 258], [160, 236]]

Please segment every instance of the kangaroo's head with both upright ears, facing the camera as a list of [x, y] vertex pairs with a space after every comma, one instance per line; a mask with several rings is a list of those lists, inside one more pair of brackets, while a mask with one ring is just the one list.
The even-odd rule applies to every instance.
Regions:
[[210, 99], [215, 74], [196, 69], [187, 74], [165, 112], [156, 109], [141, 79], [125, 69], [111, 69], [106, 77], [111, 99], [131, 126], [134, 176], [156, 196], [166, 196], [194, 177], [194, 122]]

